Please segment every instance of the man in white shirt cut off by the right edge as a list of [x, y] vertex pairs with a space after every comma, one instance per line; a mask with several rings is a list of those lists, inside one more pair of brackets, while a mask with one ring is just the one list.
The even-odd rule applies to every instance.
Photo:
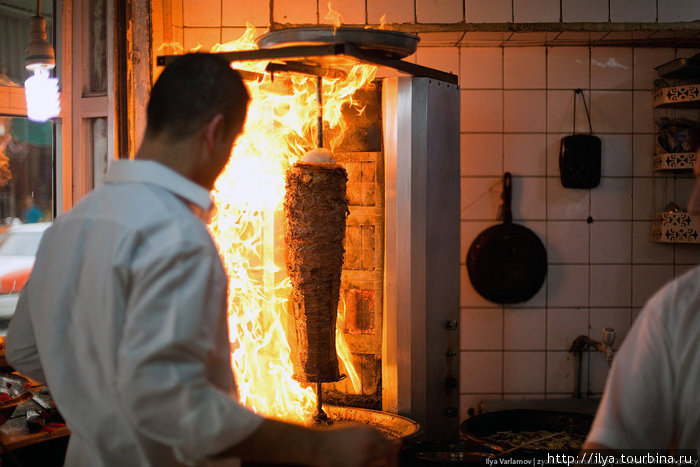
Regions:
[[[688, 210], [700, 214], [700, 165]], [[615, 355], [584, 449], [700, 450], [700, 267], [644, 306]]]

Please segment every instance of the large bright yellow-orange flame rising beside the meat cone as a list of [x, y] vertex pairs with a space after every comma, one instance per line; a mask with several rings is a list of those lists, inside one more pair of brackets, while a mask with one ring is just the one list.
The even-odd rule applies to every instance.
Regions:
[[[212, 52], [255, 49], [255, 29]], [[290, 283], [284, 263], [282, 201], [285, 171], [316, 147], [318, 104], [316, 78], [281, 73], [274, 80], [266, 62], [237, 62], [235, 68], [260, 73], [246, 84], [251, 94], [244, 131], [213, 191], [217, 212], [210, 230], [229, 275], [229, 325], [232, 364], [241, 401], [265, 416], [303, 422], [316, 404], [312, 388], [292, 378], [287, 313]], [[333, 150], [345, 128], [341, 107], [354, 106], [353, 93], [370, 85], [376, 67], [355, 65], [344, 78], [324, 79], [324, 124], [333, 130]], [[339, 307], [344, 312], [344, 306]], [[342, 324], [344, 317], [339, 317]], [[336, 331], [341, 361], [355, 391], [359, 378], [349, 348]], [[344, 370], [344, 371], [343, 371]]]

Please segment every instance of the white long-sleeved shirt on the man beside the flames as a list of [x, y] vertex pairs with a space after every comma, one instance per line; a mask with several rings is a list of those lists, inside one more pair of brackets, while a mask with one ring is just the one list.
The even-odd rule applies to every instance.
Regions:
[[236, 398], [227, 278], [190, 206], [208, 212], [209, 192], [117, 161], [44, 235], [7, 357], [47, 383], [68, 466], [197, 465], [262, 421]]

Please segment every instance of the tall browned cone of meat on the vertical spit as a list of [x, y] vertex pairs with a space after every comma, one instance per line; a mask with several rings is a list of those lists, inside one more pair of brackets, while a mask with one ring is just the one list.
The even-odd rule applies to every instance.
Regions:
[[[305, 160], [314, 160], [311, 156]], [[347, 172], [335, 161], [299, 162], [287, 172], [284, 239], [297, 335], [294, 378], [302, 382], [341, 378], [335, 328], [345, 252], [346, 185]]]

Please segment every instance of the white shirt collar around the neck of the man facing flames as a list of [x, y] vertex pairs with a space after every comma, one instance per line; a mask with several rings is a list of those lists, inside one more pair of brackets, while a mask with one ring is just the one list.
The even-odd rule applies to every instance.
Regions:
[[172, 169], [155, 161], [112, 161], [105, 177], [106, 183], [148, 183], [156, 185], [184, 199], [195, 213], [208, 213], [212, 208], [209, 190], [197, 185]]

